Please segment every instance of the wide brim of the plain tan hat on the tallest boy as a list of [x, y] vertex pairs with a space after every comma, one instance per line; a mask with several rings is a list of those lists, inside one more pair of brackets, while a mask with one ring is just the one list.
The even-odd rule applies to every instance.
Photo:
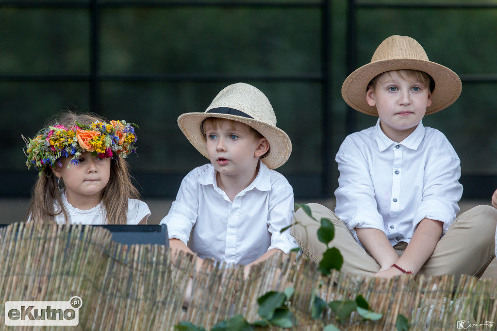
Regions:
[[342, 85], [343, 99], [355, 110], [378, 116], [376, 107], [371, 107], [366, 101], [367, 87], [373, 78], [392, 70], [417, 70], [431, 76], [435, 88], [431, 93], [431, 105], [426, 108], [426, 115], [450, 106], [461, 94], [461, 80], [449, 68], [431, 61], [392, 59], [368, 63], [350, 74]]

